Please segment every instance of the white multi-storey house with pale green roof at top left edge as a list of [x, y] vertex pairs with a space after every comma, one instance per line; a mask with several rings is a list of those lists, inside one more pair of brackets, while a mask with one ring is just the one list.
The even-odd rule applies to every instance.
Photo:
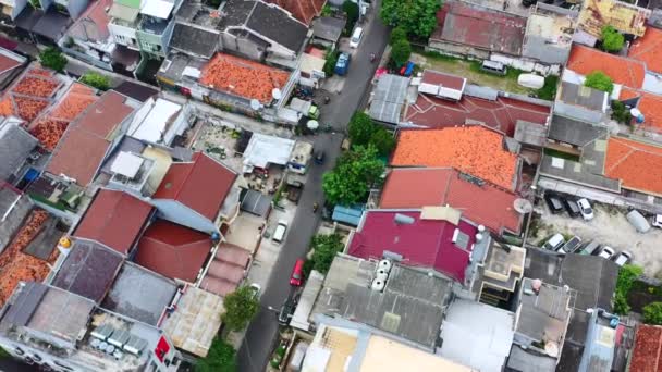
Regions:
[[147, 59], [168, 55], [181, 0], [117, 0], [108, 28], [114, 42], [139, 50]]

